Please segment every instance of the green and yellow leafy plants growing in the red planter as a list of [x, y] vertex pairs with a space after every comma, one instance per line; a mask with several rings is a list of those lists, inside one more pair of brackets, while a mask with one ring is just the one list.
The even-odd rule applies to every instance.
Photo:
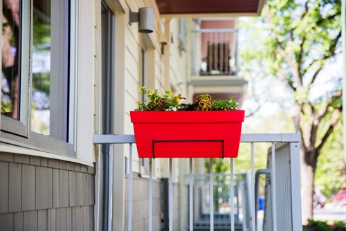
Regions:
[[214, 100], [208, 94], [197, 96], [195, 102], [182, 103], [186, 100], [181, 94], [172, 95], [171, 90], [164, 93], [158, 93], [158, 90], [145, 89], [140, 87], [140, 93], [144, 95], [145, 100], [137, 102], [136, 111], [231, 111], [237, 110], [238, 103], [230, 96], [228, 100]]

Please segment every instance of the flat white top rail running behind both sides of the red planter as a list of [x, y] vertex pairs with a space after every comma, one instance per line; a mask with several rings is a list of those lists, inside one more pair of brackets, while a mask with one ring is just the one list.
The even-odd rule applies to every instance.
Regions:
[[[240, 142], [300, 142], [300, 133], [242, 133]], [[93, 135], [93, 143], [100, 144], [127, 144], [136, 143], [134, 135]]]

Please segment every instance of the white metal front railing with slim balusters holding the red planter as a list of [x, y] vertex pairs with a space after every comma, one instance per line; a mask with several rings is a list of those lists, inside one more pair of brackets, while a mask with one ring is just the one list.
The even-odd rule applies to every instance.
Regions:
[[[94, 144], [129, 144], [129, 203], [128, 203], [128, 230], [131, 231], [131, 221], [132, 221], [132, 144], [134, 144], [136, 141], [134, 139], [133, 135], [94, 135], [93, 137], [93, 143]], [[300, 209], [300, 159], [299, 159], [299, 142], [300, 142], [300, 133], [245, 133], [242, 134], [241, 142], [250, 142], [251, 143], [251, 181], [250, 181], [250, 205], [251, 205], [251, 214], [250, 214], [250, 220], [251, 220], [251, 227], [248, 228], [248, 230], [256, 230], [256, 224], [255, 224], [255, 217], [256, 217], [256, 210], [255, 210], [255, 201], [257, 198], [255, 198], [255, 149], [254, 149], [254, 143], [255, 142], [268, 142], [271, 143], [271, 167], [270, 167], [270, 174], [271, 174], [271, 207], [269, 208], [271, 211], [271, 227], [273, 228], [273, 231], [277, 231], [277, 181], [275, 178], [276, 173], [276, 161], [275, 161], [275, 143], [286, 143], [289, 145], [289, 152], [285, 154], [289, 154], [289, 175], [290, 175], [290, 181], [288, 182], [288, 188], [290, 191], [291, 198], [286, 198], [291, 203], [291, 211], [289, 211], [292, 214], [291, 223], [292, 230], [298, 231], [302, 230], [302, 221], [301, 221], [301, 209]], [[112, 145], [110, 145], [112, 147]], [[112, 153], [112, 151], [110, 151]], [[148, 230], [152, 231], [152, 218], [153, 218], [153, 207], [152, 207], [152, 162], [154, 160], [150, 158], [149, 160], [149, 208], [148, 208], [148, 216], [149, 216], [149, 225]], [[194, 213], [193, 213], [193, 169], [192, 169], [192, 158], [190, 158], [190, 176], [189, 176], [189, 230], [193, 230], [193, 221], [194, 221]], [[273, 164], [274, 163], [274, 164]], [[109, 165], [112, 165], [112, 162], [109, 163]], [[109, 166], [109, 169], [111, 171], [111, 166]], [[173, 187], [172, 187], [172, 158], [170, 158], [170, 179], [169, 179], [169, 230], [172, 231], [173, 229]], [[110, 174], [112, 175], [112, 174]], [[230, 230], [235, 231], [235, 206], [233, 202], [233, 198], [235, 196], [234, 192], [234, 164], [233, 164], [233, 158], [230, 158]], [[214, 210], [213, 210], [213, 186], [214, 181], [213, 179], [213, 172], [212, 172], [212, 158], [210, 158], [210, 230], [214, 230]], [[109, 202], [112, 201], [112, 180], [109, 180]], [[280, 199], [282, 199], [282, 196], [280, 195]], [[280, 208], [285, 209], [285, 208]], [[111, 230], [111, 206], [109, 206], [109, 214], [108, 214], [108, 230]], [[294, 211], [294, 214], [293, 214]], [[281, 218], [279, 218], [281, 219]], [[282, 220], [284, 221], [284, 219]], [[281, 231], [281, 230], [280, 230]]]

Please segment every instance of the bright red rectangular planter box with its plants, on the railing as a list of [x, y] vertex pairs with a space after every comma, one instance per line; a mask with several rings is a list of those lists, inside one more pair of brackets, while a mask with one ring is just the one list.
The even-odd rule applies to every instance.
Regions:
[[237, 102], [210, 95], [185, 104], [172, 91], [140, 88], [145, 102], [131, 111], [140, 158], [237, 157], [244, 111]]

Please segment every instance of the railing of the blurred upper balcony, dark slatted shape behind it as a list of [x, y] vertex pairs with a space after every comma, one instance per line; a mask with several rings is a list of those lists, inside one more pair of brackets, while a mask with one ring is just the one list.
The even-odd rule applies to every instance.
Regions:
[[237, 29], [193, 30], [191, 38], [192, 76], [237, 75]]

